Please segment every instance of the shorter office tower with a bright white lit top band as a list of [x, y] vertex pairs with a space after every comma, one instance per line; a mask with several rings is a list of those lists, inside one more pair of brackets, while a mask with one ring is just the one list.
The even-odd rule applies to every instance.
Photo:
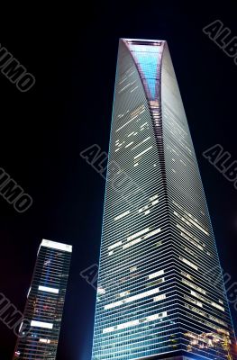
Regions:
[[24, 310], [30, 326], [17, 340], [14, 359], [56, 359], [71, 251], [70, 245], [41, 241]]

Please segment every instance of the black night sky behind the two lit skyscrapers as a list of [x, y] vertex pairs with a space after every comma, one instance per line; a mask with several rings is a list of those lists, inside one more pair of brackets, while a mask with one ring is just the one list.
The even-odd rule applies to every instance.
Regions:
[[[237, 281], [237, 191], [202, 157], [220, 143], [237, 159], [237, 66], [202, 31], [220, 19], [237, 35], [236, 5], [226, 0], [9, 7], [1, 9], [0, 43], [36, 84], [23, 94], [0, 74], [0, 167], [31, 194], [33, 205], [20, 214], [0, 198], [0, 293], [23, 311], [41, 238], [72, 244], [57, 359], [89, 360], [96, 292], [79, 273], [98, 261], [105, 181], [79, 153], [94, 143], [108, 149], [120, 37], [169, 42], [221, 264], [232, 283]], [[232, 318], [237, 324], [233, 309]], [[12, 358], [15, 340], [0, 323], [1, 360]]]

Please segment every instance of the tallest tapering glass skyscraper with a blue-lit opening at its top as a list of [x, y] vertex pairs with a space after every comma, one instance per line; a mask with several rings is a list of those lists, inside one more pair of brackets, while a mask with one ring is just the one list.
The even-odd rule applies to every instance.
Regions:
[[122, 39], [93, 360], [231, 360], [234, 346], [205, 193], [167, 42]]

